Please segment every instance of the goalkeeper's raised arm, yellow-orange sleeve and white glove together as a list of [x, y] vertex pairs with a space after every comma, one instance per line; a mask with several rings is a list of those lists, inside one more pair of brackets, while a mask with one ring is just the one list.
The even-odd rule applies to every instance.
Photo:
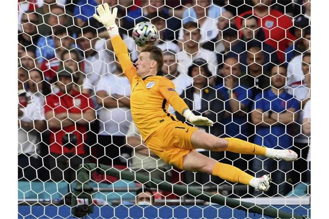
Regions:
[[131, 82], [132, 77], [136, 74], [136, 69], [128, 55], [127, 46], [119, 35], [118, 26], [115, 24], [117, 11], [118, 9], [114, 8], [111, 12], [109, 5], [105, 3], [97, 7], [99, 16], [94, 14], [93, 17], [106, 27], [111, 38], [114, 53], [120, 62], [122, 71]]

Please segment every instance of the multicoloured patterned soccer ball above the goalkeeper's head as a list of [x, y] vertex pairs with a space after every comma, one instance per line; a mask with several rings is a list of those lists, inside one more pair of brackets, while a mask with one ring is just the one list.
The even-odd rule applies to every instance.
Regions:
[[138, 46], [152, 44], [159, 39], [157, 28], [150, 22], [140, 22], [133, 30], [133, 38]]

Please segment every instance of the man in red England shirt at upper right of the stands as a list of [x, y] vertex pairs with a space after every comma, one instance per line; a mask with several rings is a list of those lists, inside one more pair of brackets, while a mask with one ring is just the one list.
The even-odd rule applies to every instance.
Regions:
[[[291, 18], [271, 8], [268, 14], [268, 7], [272, 4], [272, 0], [262, 0], [262, 3], [260, 0], [252, 0], [252, 2], [255, 5], [254, 9], [239, 14], [235, 19], [236, 26], [239, 30], [241, 29], [241, 19], [246, 14], [253, 14], [258, 17], [258, 24], [265, 33], [265, 42], [277, 50], [279, 61], [283, 62], [284, 52], [296, 40], [289, 31], [293, 26]], [[240, 33], [241, 35], [242, 33]]]

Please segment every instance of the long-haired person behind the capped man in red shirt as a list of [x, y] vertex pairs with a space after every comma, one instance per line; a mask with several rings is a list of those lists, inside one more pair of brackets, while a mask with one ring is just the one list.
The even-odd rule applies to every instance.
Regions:
[[64, 50], [61, 53], [61, 60], [64, 66], [69, 67], [73, 72], [73, 82], [75, 90], [82, 90], [83, 79], [85, 78], [84, 62], [81, 60], [79, 53], [76, 50]]

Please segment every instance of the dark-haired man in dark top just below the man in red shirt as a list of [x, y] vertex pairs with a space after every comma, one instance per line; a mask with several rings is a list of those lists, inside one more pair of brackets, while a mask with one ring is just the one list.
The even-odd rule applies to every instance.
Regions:
[[[246, 14], [241, 19], [241, 31], [242, 36], [240, 36], [241, 41], [247, 43], [247, 48], [257, 46], [262, 48], [264, 53], [264, 63], [267, 64], [270, 61], [272, 63], [278, 63], [278, 55], [275, 53], [276, 49], [273, 46], [268, 45], [265, 41], [265, 33], [262, 28], [258, 26], [258, 18], [253, 16], [252, 14]], [[240, 43], [237, 47], [241, 47], [243, 51], [245, 51], [245, 44]], [[235, 49], [235, 48], [234, 48]], [[246, 55], [247, 53], [242, 53], [240, 55], [240, 63], [246, 64]], [[269, 71], [270, 65], [265, 65], [264, 70]]]

